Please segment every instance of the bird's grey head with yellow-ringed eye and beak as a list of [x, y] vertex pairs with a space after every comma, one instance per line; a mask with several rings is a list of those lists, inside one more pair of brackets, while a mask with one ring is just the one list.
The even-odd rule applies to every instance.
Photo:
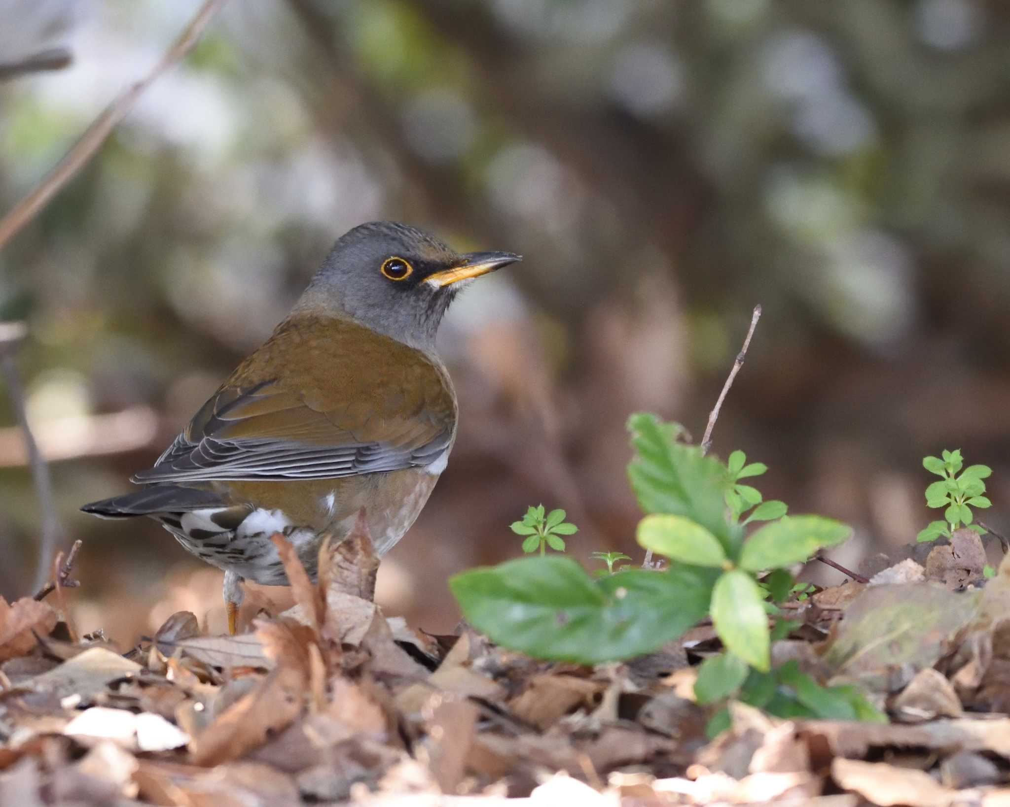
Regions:
[[406, 224], [362, 224], [333, 245], [298, 309], [349, 317], [400, 342], [431, 349], [460, 290], [520, 259], [511, 252], [460, 254]]

